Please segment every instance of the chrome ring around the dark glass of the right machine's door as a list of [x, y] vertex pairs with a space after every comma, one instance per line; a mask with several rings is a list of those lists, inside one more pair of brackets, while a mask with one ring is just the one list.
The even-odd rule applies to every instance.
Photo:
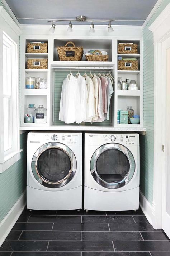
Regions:
[[[108, 149], [117, 149], [119, 151], [121, 151], [123, 154], [125, 154], [125, 156], [128, 158], [129, 160], [129, 171], [127, 172], [127, 174], [124, 176], [124, 178], [121, 181], [113, 181], [113, 182], [107, 182], [105, 180], [103, 180], [100, 175], [98, 174], [97, 170], [96, 170], [96, 162], [99, 158], [99, 156], [107, 151]], [[127, 151], [127, 153], [125, 152]], [[132, 163], [133, 161], [133, 163]], [[109, 189], [115, 189], [115, 188], [120, 188], [124, 185], [126, 185], [133, 177], [134, 172], [135, 172], [135, 160], [134, 157], [131, 153], [131, 151], [126, 148], [124, 145], [119, 144], [119, 143], [107, 143], [102, 145], [101, 147], [99, 147], [98, 149], [96, 149], [96, 151], [93, 153], [93, 156], [91, 157], [91, 161], [90, 161], [90, 170], [91, 170], [91, 174], [93, 176], [93, 178], [95, 179], [96, 182], [98, 182], [99, 185], [105, 187], [105, 188], [109, 188]]]

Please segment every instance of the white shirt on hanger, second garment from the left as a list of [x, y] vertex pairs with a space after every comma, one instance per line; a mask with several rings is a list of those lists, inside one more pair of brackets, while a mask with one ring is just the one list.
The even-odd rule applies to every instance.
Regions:
[[76, 78], [79, 85], [80, 105], [81, 105], [80, 112], [81, 112], [81, 122], [82, 122], [86, 119], [88, 90], [86, 86], [86, 80], [84, 77], [80, 75], [80, 73], [76, 74]]

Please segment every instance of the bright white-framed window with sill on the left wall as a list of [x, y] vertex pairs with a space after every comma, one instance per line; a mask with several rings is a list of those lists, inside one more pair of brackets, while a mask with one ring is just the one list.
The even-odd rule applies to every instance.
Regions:
[[1, 134], [0, 172], [20, 159], [19, 114], [18, 114], [18, 47], [17, 44], [2, 32], [3, 90], [0, 91], [3, 132]]

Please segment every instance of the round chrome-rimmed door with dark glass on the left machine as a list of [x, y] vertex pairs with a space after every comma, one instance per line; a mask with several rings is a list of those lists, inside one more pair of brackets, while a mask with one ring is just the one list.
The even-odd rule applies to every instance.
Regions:
[[49, 142], [37, 149], [32, 158], [32, 172], [45, 187], [58, 188], [69, 183], [77, 168], [74, 153], [65, 144]]

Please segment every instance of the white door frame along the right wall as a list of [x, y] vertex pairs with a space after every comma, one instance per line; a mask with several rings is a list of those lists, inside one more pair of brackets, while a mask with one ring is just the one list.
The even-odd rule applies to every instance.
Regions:
[[[170, 4], [161, 12], [149, 27], [154, 37], [154, 186], [153, 186], [153, 220], [155, 229], [162, 228], [162, 104], [163, 72], [165, 63], [162, 61], [162, 43], [170, 37]], [[165, 95], [164, 95], [165, 97]]]

